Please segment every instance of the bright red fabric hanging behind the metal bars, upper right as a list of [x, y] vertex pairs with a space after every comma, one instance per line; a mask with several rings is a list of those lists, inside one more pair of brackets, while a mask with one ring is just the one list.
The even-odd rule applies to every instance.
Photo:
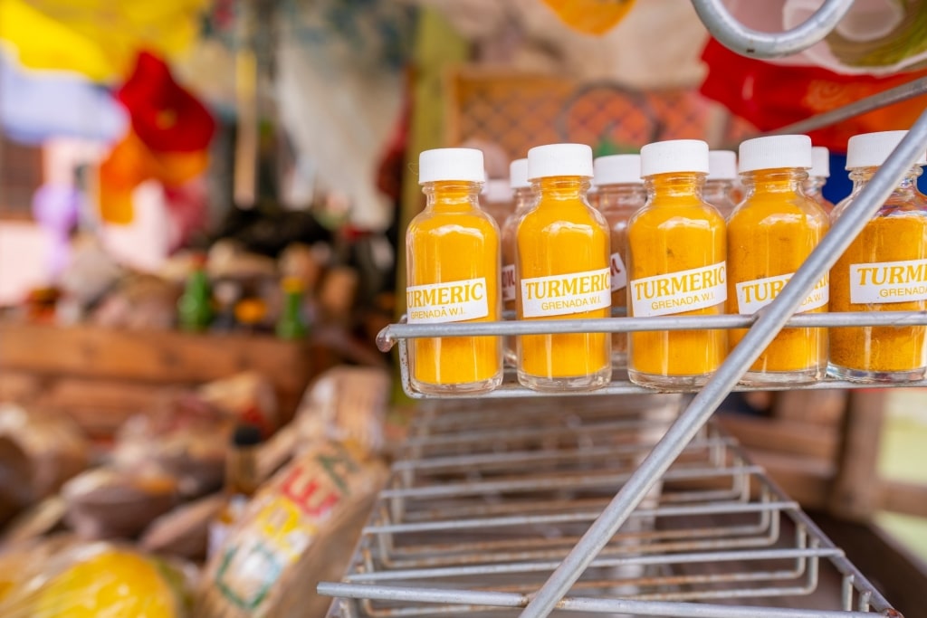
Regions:
[[[891, 77], [840, 75], [819, 67], [774, 65], [735, 54], [714, 39], [705, 46], [702, 59], [708, 76], [700, 92], [760, 131], [779, 129], [927, 75], [927, 70]], [[846, 152], [846, 141], [858, 133], [909, 129], [924, 107], [927, 95], [811, 132], [811, 139]]]

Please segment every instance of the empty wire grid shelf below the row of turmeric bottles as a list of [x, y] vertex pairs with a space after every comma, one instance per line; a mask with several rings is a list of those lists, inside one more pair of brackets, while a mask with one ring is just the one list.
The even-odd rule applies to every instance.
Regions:
[[[319, 586], [340, 597], [329, 617], [513, 615], [682, 403], [680, 395], [647, 395], [421, 404], [348, 574]], [[840, 578], [839, 594], [819, 589], [822, 571]], [[752, 604], [794, 605], [799, 597], [812, 609]], [[896, 615], [714, 424], [559, 607], [557, 615]]]

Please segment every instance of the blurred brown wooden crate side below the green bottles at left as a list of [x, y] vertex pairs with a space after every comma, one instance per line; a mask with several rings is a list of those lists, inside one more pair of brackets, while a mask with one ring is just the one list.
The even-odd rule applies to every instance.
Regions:
[[0, 323], [0, 399], [65, 411], [92, 435], [111, 434], [167, 387], [247, 371], [271, 381], [286, 418], [337, 362], [327, 347], [266, 335]]

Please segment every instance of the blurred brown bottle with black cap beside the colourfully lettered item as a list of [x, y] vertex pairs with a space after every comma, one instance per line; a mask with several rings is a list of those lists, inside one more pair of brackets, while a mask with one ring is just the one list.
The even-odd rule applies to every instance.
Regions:
[[258, 474], [258, 450], [260, 429], [251, 424], [235, 427], [228, 451], [225, 454], [225, 502], [222, 510], [210, 523], [208, 553], [214, 555], [228, 536], [235, 523], [241, 519], [248, 500], [260, 486]]

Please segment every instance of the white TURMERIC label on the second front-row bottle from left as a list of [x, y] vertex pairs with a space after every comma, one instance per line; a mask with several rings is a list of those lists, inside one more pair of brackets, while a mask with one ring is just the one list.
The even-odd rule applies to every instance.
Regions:
[[612, 306], [611, 269], [522, 279], [526, 318], [569, 315]]

